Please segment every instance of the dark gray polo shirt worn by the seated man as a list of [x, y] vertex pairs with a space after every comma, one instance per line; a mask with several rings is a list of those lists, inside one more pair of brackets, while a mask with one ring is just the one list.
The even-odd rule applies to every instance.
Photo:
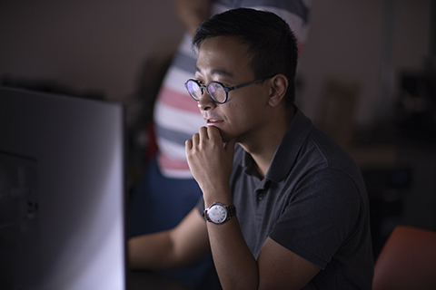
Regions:
[[237, 146], [233, 203], [253, 256], [271, 237], [322, 268], [303, 289], [371, 289], [368, 197], [345, 150], [297, 109], [264, 179], [252, 164]]

